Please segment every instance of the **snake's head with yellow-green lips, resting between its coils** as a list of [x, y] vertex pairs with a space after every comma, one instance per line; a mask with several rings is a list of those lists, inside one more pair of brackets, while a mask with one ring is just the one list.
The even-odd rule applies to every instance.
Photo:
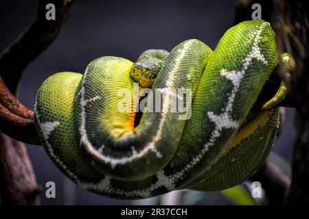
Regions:
[[141, 53], [131, 66], [130, 75], [143, 88], [151, 88], [169, 52], [163, 49], [149, 49]]

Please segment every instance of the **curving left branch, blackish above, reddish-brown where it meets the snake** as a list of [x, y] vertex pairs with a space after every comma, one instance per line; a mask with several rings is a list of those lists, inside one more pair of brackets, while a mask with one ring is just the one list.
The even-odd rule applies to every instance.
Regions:
[[[47, 21], [45, 6], [52, 2], [56, 6], [56, 20]], [[10, 92], [16, 93], [21, 73], [27, 64], [56, 38], [67, 20], [70, 4], [69, 0], [40, 1], [36, 21], [0, 57], [0, 131], [16, 140], [40, 144], [34, 127], [34, 113], [19, 103]]]

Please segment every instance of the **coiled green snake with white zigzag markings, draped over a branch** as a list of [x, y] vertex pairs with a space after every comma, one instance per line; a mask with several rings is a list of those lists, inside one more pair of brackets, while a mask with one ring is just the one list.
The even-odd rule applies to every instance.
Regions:
[[[290, 61], [282, 55], [287, 73]], [[43, 82], [37, 131], [69, 179], [103, 196], [223, 190], [258, 170], [275, 142], [285, 83], [263, 109], [255, 102], [277, 64], [265, 21], [231, 27], [214, 51], [192, 39], [170, 52], [146, 51], [135, 63], [99, 57], [84, 75], [61, 72]], [[158, 95], [143, 98], [141, 88]], [[172, 110], [175, 99], [185, 112]]]

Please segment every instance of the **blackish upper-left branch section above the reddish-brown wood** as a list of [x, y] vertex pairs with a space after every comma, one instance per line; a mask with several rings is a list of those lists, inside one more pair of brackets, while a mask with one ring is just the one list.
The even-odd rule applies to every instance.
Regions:
[[[47, 3], [56, 6], [56, 20], [47, 21], [45, 9]], [[0, 74], [5, 86], [14, 94], [18, 88], [21, 74], [25, 67], [32, 62], [56, 38], [62, 25], [67, 20], [71, 0], [41, 0], [38, 5], [36, 21], [10, 46], [0, 57]]]

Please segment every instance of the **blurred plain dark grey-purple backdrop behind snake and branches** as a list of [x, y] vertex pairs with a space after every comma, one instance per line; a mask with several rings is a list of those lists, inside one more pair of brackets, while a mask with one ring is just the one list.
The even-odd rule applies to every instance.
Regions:
[[[36, 17], [38, 1], [1, 1], [0, 51]], [[190, 38], [211, 49], [234, 24], [235, 1], [75, 1], [69, 20], [56, 40], [25, 70], [21, 103], [33, 109], [38, 87], [59, 71], [84, 72], [97, 57], [113, 55], [136, 60], [146, 49], [172, 49]], [[262, 5], [263, 7], [263, 5]], [[263, 15], [262, 15], [263, 18]], [[18, 61], [18, 60], [16, 60]], [[295, 131], [294, 110], [288, 109], [283, 133], [273, 151], [290, 160]], [[78, 188], [51, 162], [43, 147], [27, 146], [42, 204], [130, 204], [104, 198]], [[56, 198], [45, 198], [45, 183], [56, 183]], [[225, 201], [210, 201], [225, 203]]]

